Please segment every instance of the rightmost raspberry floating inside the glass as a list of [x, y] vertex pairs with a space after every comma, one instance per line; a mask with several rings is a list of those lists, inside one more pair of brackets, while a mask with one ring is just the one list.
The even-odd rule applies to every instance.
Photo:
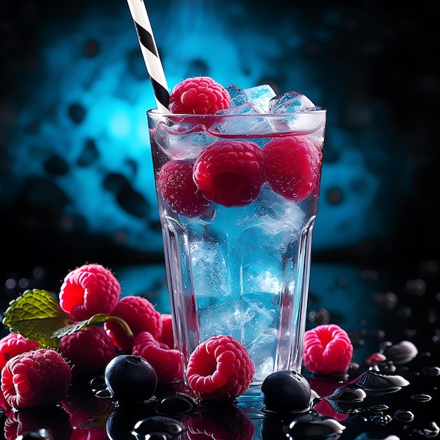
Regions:
[[316, 188], [321, 152], [304, 136], [273, 138], [263, 148], [266, 178], [272, 189], [290, 200], [304, 200]]

